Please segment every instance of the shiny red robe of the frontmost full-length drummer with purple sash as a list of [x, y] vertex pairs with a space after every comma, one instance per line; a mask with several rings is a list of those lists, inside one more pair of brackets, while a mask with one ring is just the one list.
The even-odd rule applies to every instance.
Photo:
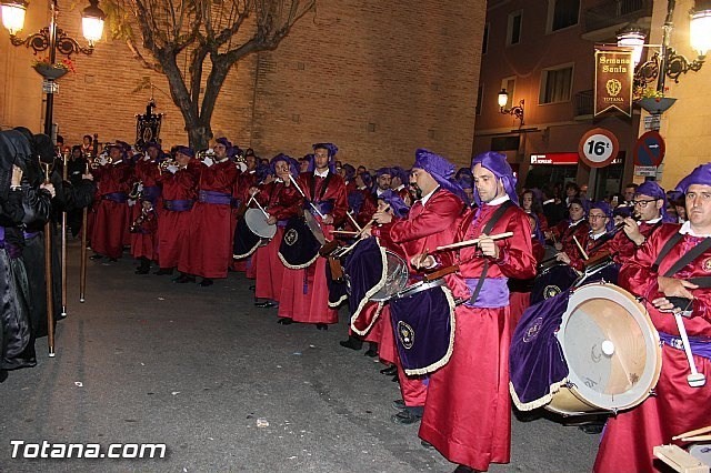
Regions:
[[[484, 204], [465, 224], [458, 240], [481, 234], [498, 205]], [[497, 241], [500, 258], [490, 259], [487, 279], [528, 279], [535, 275], [528, 217], [510, 208], [490, 233], [513, 232]], [[460, 251], [459, 273], [448, 278], [455, 298], [471, 298], [464, 278], [479, 279], [485, 258], [477, 246]], [[508, 300], [491, 309], [457, 308], [452, 356], [430, 378], [420, 437], [454, 463], [487, 471], [490, 463], [508, 463], [511, 453], [511, 397], [509, 395]]]

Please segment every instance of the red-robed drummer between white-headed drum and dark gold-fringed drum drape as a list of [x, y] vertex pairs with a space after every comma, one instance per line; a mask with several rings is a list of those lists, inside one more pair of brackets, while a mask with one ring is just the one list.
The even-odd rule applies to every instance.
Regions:
[[284, 234], [284, 227], [290, 218], [297, 217], [303, 207], [303, 198], [294, 188], [290, 177], [299, 177], [299, 162], [286, 154], [278, 154], [271, 160], [271, 172], [277, 177], [274, 181], [261, 189], [251, 187], [249, 194], [267, 211], [267, 223], [277, 225], [277, 233], [264, 246], [257, 249], [257, 284], [254, 296], [261, 299], [256, 302], [258, 308], [273, 308], [279, 305], [284, 265], [279, 259], [279, 245]]

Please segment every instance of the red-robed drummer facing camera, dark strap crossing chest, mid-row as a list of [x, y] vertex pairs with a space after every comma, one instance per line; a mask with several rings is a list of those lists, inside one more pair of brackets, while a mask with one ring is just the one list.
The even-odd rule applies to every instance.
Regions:
[[[319, 222], [327, 240], [333, 239], [331, 232], [343, 223], [348, 211], [346, 182], [336, 173], [333, 164], [337, 152], [333, 143], [316, 143], [313, 172], [302, 172], [297, 180], [306, 194], [304, 208]], [[338, 322], [338, 311], [328, 304], [327, 262], [319, 256], [308, 268], [284, 270], [279, 323], [313, 323], [319, 330], [328, 330], [328, 324]]]

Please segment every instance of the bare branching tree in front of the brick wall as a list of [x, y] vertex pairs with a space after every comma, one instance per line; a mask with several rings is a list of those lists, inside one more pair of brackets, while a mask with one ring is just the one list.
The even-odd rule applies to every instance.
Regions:
[[[128, 42], [141, 64], [166, 74], [190, 144], [204, 149], [232, 66], [252, 52], [276, 49], [316, 0], [108, 0], [102, 6], [114, 34]], [[132, 24], [138, 24], [139, 33]], [[152, 58], [139, 48], [139, 36]], [[187, 77], [178, 67], [183, 54]]]

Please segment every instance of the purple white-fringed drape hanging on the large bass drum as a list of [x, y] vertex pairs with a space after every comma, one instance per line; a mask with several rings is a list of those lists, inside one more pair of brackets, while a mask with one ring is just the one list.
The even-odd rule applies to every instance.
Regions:
[[511, 397], [521, 411], [548, 404], [553, 389], [568, 378], [568, 363], [555, 338], [568, 309], [570, 291], [531, 305], [511, 336]]

